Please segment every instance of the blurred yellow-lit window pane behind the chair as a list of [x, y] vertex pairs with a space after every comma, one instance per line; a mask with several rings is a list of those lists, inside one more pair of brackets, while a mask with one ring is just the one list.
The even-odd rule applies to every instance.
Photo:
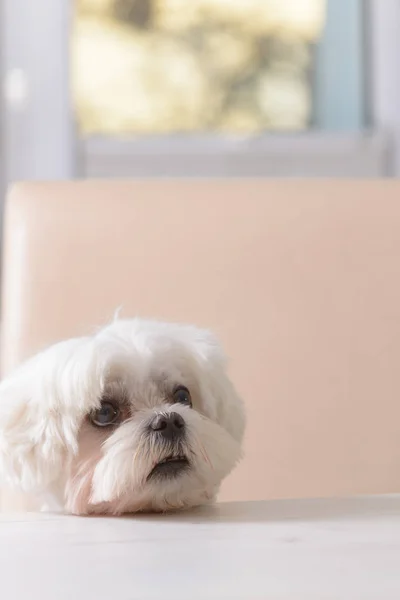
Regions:
[[82, 134], [240, 134], [312, 122], [325, 0], [75, 3]]

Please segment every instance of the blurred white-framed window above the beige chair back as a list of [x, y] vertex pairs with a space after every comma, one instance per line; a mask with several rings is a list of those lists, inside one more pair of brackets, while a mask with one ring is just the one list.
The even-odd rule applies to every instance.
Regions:
[[8, 180], [400, 172], [398, 0], [3, 0], [3, 30]]

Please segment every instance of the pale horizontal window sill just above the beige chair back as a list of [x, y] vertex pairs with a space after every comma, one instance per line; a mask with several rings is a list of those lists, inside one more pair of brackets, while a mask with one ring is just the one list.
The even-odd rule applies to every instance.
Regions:
[[90, 178], [382, 177], [390, 175], [389, 150], [380, 132], [93, 137], [80, 142], [79, 162]]

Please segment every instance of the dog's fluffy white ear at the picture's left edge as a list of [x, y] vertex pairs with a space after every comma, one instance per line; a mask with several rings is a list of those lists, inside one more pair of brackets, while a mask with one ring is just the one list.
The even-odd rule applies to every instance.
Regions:
[[95, 362], [89, 341], [70, 340], [38, 354], [1, 383], [0, 481], [35, 491], [59, 478], [67, 455], [77, 451], [86, 405], [100, 397]]

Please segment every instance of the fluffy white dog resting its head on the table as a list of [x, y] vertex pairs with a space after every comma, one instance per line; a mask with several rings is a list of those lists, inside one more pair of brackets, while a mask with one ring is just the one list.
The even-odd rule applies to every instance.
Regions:
[[75, 514], [211, 501], [241, 455], [243, 405], [214, 337], [117, 320], [0, 385], [0, 481]]

